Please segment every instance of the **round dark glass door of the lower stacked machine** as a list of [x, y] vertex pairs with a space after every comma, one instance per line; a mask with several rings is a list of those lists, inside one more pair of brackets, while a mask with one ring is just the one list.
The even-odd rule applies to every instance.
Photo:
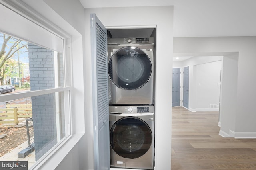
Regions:
[[123, 158], [139, 158], [152, 143], [150, 127], [137, 117], [124, 117], [110, 129], [110, 147]]

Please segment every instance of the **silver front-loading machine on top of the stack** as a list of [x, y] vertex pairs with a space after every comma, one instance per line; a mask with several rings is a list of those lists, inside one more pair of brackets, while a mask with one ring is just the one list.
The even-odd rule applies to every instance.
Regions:
[[110, 105], [154, 104], [154, 38], [108, 39]]

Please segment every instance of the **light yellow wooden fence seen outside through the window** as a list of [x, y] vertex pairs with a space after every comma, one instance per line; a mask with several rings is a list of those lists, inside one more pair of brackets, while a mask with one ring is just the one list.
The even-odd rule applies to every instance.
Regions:
[[32, 117], [31, 104], [6, 104], [6, 109], [0, 109], [0, 124], [18, 125], [24, 121], [24, 119], [19, 120], [19, 118], [29, 117]]

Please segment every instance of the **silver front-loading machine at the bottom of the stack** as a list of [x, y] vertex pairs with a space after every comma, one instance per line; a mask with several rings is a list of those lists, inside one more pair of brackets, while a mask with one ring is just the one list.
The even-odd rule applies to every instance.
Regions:
[[109, 106], [110, 167], [154, 169], [154, 106]]

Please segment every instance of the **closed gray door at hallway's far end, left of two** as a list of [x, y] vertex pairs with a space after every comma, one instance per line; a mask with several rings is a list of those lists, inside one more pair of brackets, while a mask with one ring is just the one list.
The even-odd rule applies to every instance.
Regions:
[[180, 68], [172, 68], [172, 107], [180, 106]]

